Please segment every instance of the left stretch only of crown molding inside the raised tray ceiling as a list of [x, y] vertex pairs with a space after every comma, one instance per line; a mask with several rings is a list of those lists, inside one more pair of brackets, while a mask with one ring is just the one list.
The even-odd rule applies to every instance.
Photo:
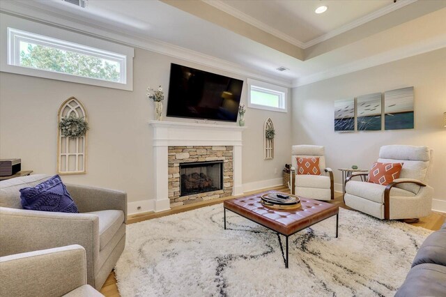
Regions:
[[236, 8], [233, 8], [232, 6], [229, 6], [228, 4], [224, 3], [221, 0], [201, 0], [204, 3], [213, 6], [219, 10], [224, 11], [224, 13], [227, 13], [229, 15], [232, 15], [233, 17], [237, 17], [239, 20], [242, 20], [243, 22], [250, 24], [252, 26], [255, 26], [257, 29], [261, 29], [262, 31], [265, 31], [266, 33], [270, 33], [271, 35], [280, 38], [287, 43], [291, 43], [292, 45], [295, 45], [296, 47], [304, 48], [305, 49], [305, 43], [302, 43], [302, 41], [297, 40], [288, 34], [283, 33], [282, 31], [279, 31], [277, 29], [272, 28], [272, 26], [269, 26], [263, 22], [260, 22], [259, 20], [255, 19], [254, 17], [251, 17], [250, 15], [247, 15], [246, 13], [241, 12], [240, 10], [237, 10]]

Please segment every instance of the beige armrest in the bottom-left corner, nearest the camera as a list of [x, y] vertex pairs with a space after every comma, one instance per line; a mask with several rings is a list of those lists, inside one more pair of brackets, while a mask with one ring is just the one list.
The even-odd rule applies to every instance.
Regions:
[[86, 255], [68, 245], [0, 257], [1, 296], [62, 296], [86, 284]]

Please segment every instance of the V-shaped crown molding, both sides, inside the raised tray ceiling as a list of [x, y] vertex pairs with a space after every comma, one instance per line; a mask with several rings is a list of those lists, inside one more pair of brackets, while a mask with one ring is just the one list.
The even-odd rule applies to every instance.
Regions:
[[392, 13], [392, 11], [402, 8], [404, 6], [407, 6], [411, 3], [414, 3], [417, 0], [397, 1], [397, 3], [393, 3], [391, 6], [386, 6], [379, 10], [376, 10], [374, 13], [370, 13], [369, 15], [365, 15], [364, 17], [360, 17], [359, 19], [357, 19], [353, 22], [345, 24], [344, 26], [340, 26], [337, 29], [334, 29], [328, 33], [323, 34], [322, 36], [319, 36], [319, 37], [309, 40], [307, 42], [302, 42], [300, 40], [297, 40], [297, 39], [289, 36], [286, 33], [283, 33], [282, 31], [274, 29], [274, 28], [272, 28], [272, 26], [269, 26], [268, 24], [260, 22], [259, 20], [256, 20], [254, 17], [251, 17], [251, 16], [247, 15], [246, 13], [243, 13], [240, 10], [233, 8], [232, 6], [229, 6], [228, 4], [224, 3], [222, 0], [201, 0], [201, 1], [209, 4], [210, 6], [217, 8], [217, 9], [220, 9], [220, 10], [224, 11], [225, 13], [232, 15], [233, 17], [237, 17], [239, 20], [242, 20], [243, 22], [246, 22], [247, 24], [251, 24], [252, 26], [255, 26], [256, 28], [261, 29], [262, 31], [270, 33], [270, 34], [276, 36], [277, 38], [280, 38], [288, 43], [291, 43], [292, 45], [295, 45], [295, 46], [300, 47], [301, 49], [305, 50], [308, 47], [312, 47], [313, 45], [322, 43], [325, 40], [333, 38], [334, 36], [338, 36], [341, 33], [345, 33], [346, 31], [356, 28], [357, 26], [361, 26], [362, 24], [365, 24], [367, 22], [375, 20], [378, 17], [387, 15], [387, 13]]

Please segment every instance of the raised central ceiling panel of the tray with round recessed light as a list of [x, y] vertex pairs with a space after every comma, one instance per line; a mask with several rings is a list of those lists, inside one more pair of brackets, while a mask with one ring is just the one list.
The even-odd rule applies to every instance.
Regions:
[[[252, 18], [253, 22], [269, 26], [300, 43], [394, 6], [393, 0], [210, 0], [207, 3], [245, 20]], [[322, 5], [328, 10], [322, 14], [314, 13]]]

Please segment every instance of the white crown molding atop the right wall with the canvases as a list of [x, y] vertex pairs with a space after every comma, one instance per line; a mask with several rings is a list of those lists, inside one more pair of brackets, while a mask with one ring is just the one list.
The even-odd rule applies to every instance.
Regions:
[[377, 54], [375, 56], [369, 56], [367, 58], [360, 59], [343, 66], [331, 68], [314, 75], [299, 77], [298, 79], [293, 80], [293, 88], [304, 86], [305, 84], [319, 82], [324, 79], [337, 77], [339, 75], [353, 73], [355, 71], [371, 68], [374, 66], [383, 65], [385, 63], [406, 59], [410, 56], [416, 56], [418, 54], [440, 50], [442, 48], [446, 48], [446, 34], [443, 34], [443, 36], [438, 36], [436, 38], [431, 38], [430, 40], [423, 40], [422, 43], [418, 43], [417, 45], [408, 45], [406, 47], [394, 49], [389, 52]]

